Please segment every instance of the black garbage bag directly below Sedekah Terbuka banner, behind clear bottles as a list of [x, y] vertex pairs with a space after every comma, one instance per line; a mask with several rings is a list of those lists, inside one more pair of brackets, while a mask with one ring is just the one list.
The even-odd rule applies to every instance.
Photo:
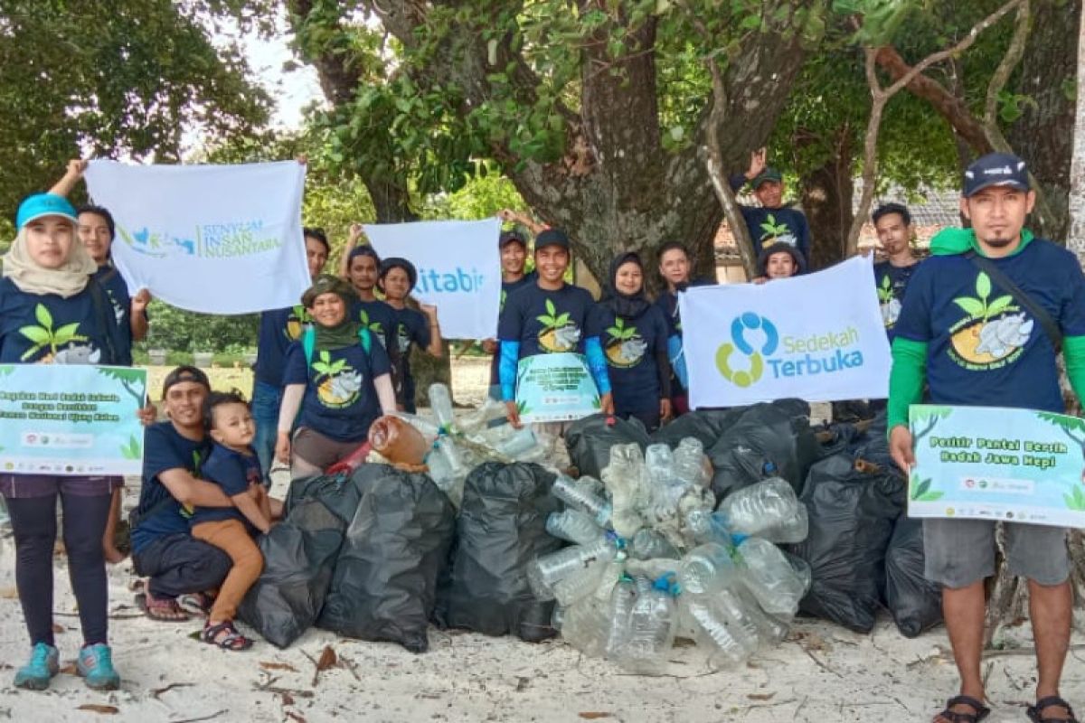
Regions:
[[723, 434], [707, 450], [717, 500], [769, 477], [782, 477], [796, 493], [802, 491], [820, 450], [809, 417], [801, 411], [796, 400], [754, 404]]

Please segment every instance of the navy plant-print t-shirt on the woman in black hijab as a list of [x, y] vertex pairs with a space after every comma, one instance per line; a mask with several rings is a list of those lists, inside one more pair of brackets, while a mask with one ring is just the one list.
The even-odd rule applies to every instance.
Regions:
[[663, 312], [650, 306], [635, 319], [623, 319], [603, 302], [596, 309], [614, 410], [618, 414], [658, 410], [661, 389], [655, 356], [666, 353], [668, 336]]

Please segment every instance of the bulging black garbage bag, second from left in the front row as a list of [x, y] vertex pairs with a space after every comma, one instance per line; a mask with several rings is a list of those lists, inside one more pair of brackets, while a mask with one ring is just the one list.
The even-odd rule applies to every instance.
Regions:
[[317, 624], [425, 653], [456, 511], [427, 475], [367, 464], [352, 480], [361, 490], [361, 502], [346, 529]]

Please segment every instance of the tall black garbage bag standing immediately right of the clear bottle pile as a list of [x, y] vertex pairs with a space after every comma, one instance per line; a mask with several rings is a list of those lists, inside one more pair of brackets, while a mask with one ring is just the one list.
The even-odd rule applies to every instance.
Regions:
[[892, 469], [859, 472], [853, 457], [834, 454], [810, 468], [800, 500], [809, 515], [809, 534], [791, 552], [814, 573], [800, 609], [870, 632], [885, 548], [905, 505], [904, 478]]

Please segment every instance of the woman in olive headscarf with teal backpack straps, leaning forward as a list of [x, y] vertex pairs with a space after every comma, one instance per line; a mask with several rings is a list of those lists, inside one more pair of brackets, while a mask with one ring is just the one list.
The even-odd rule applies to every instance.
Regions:
[[276, 444], [280, 462], [290, 463], [293, 452], [295, 479], [319, 475], [355, 451], [369, 425], [396, 410], [384, 347], [347, 314], [356, 298], [348, 283], [330, 274], [317, 276], [302, 296], [314, 325], [286, 352]]

